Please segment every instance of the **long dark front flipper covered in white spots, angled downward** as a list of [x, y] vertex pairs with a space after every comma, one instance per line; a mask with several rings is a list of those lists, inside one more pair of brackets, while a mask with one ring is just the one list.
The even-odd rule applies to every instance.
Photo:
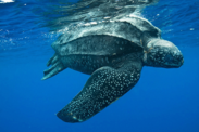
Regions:
[[127, 61], [120, 68], [96, 70], [83, 90], [57, 116], [65, 122], [82, 122], [128, 92], [139, 80], [141, 61]]

